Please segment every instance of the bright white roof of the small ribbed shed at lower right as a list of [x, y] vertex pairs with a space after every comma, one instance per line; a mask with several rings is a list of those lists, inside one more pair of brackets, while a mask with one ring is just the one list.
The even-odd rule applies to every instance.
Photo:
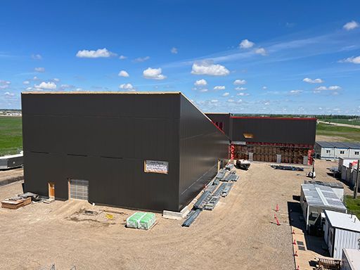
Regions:
[[331, 226], [360, 233], [360, 221], [355, 214], [345, 214], [325, 210], [325, 215], [328, 217]]

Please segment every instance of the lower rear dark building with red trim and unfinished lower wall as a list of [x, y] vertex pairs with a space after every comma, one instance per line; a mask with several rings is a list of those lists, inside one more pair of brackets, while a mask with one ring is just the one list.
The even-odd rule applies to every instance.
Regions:
[[229, 136], [231, 159], [312, 163], [316, 118], [206, 115]]

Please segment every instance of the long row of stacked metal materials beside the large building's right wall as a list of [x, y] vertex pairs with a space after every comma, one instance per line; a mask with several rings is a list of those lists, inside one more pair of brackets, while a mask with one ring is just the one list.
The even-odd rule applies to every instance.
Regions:
[[[203, 210], [214, 210], [214, 207], [219, 203], [221, 197], [229, 195], [233, 182], [238, 181], [239, 176], [233, 169], [233, 164], [229, 163], [225, 168], [221, 169], [212, 181], [207, 185], [203, 194], [198, 198], [193, 205], [193, 209], [188, 213], [186, 220], [182, 226], [188, 227], [199, 216]], [[221, 182], [221, 184], [220, 184]]]

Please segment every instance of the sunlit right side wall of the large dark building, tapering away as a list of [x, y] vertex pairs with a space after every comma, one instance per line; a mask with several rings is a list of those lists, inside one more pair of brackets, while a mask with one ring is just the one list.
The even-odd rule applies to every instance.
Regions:
[[179, 205], [184, 207], [227, 162], [229, 138], [181, 96]]

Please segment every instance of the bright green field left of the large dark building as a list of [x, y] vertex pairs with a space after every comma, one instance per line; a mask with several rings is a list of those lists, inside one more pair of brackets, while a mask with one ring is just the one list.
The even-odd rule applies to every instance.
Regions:
[[23, 150], [21, 117], [0, 116], [0, 155], [19, 153]]

